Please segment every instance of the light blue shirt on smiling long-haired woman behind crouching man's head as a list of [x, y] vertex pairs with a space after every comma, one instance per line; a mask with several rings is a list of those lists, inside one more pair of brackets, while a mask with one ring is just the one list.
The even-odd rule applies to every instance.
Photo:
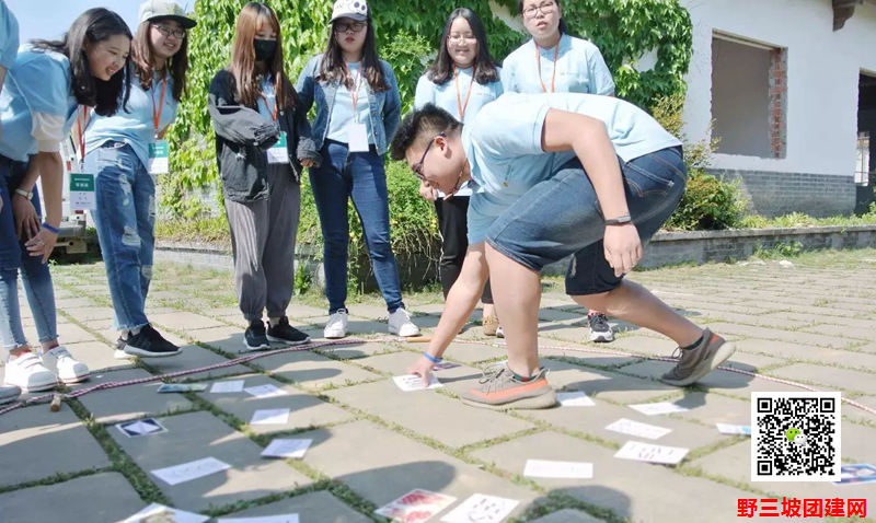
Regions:
[[[459, 102], [461, 101], [462, 106], [465, 108], [465, 114], [462, 115], [462, 123], [468, 124], [474, 121], [475, 115], [481, 112], [484, 105], [502, 95], [502, 81], [499, 80], [486, 85], [474, 82], [472, 68], [459, 69], [458, 74], [459, 98], [457, 98], [457, 84], [452, 78], [438, 85], [429, 80], [426, 74], [419, 77], [416, 95], [414, 96], [414, 108], [418, 109], [431, 103], [460, 119]], [[474, 85], [472, 85], [472, 82], [474, 82]], [[466, 98], [470, 86], [472, 92]], [[466, 100], [469, 101], [468, 105], [465, 104]], [[457, 191], [457, 196], [471, 196], [471, 194], [472, 189], [468, 186]], [[443, 194], [439, 194], [439, 196], [443, 196]]]

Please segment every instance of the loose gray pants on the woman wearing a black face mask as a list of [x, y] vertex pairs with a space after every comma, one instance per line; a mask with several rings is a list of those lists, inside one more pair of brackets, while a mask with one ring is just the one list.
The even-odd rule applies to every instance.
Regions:
[[295, 241], [301, 217], [301, 187], [287, 164], [267, 167], [268, 198], [226, 199], [234, 254], [234, 289], [249, 322], [286, 315], [295, 288]]

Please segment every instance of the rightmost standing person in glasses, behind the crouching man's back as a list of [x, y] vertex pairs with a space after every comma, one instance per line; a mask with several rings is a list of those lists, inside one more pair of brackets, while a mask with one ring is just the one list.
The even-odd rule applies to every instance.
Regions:
[[[560, 0], [518, 0], [532, 39], [508, 55], [502, 69], [506, 92], [587, 93], [614, 96], [614, 81], [593, 44], [569, 36]], [[591, 341], [612, 341], [608, 316], [587, 315]]]

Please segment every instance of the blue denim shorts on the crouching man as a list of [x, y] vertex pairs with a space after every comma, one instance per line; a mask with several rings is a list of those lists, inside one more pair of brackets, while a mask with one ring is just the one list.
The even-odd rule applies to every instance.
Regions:
[[[681, 148], [621, 162], [626, 205], [643, 247], [678, 207], [688, 181]], [[569, 295], [599, 294], [623, 276], [606, 260], [604, 218], [590, 178], [578, 160], [535, 185], [489, 228], [486, 242], [533, 270], [575, 255], [566, 272]]]

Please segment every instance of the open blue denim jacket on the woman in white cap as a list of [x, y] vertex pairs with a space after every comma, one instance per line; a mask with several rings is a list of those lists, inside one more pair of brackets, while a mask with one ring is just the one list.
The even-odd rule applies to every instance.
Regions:
[[[321, 151], [328, 135], [328, 118], [334, 108], [335, 95], [341, 85], [338, 82], [318, 82], [322, 55], [316, 55], [310, 59], [308, 65], [298, 77], [295, 89], [301, 97], [302, 111], [308, 112], [316, 102], [316, 119], [313, 120], [313, 141], [316, 142], [316, 150]], [[402, 100], [399, 96], [399, 83], [392, 67], [380, 60], [383, 68], [383, 75], [390, 85], [388, 91], [374, 92], [368, 82], [365, 83], [368, 90], [368, 106], [371, 114], [371, 132], [374, 135], [374, 146], [378, 154], [384, 154], [389, 149], [389, 143], [399, 129], [402, 116]]]

